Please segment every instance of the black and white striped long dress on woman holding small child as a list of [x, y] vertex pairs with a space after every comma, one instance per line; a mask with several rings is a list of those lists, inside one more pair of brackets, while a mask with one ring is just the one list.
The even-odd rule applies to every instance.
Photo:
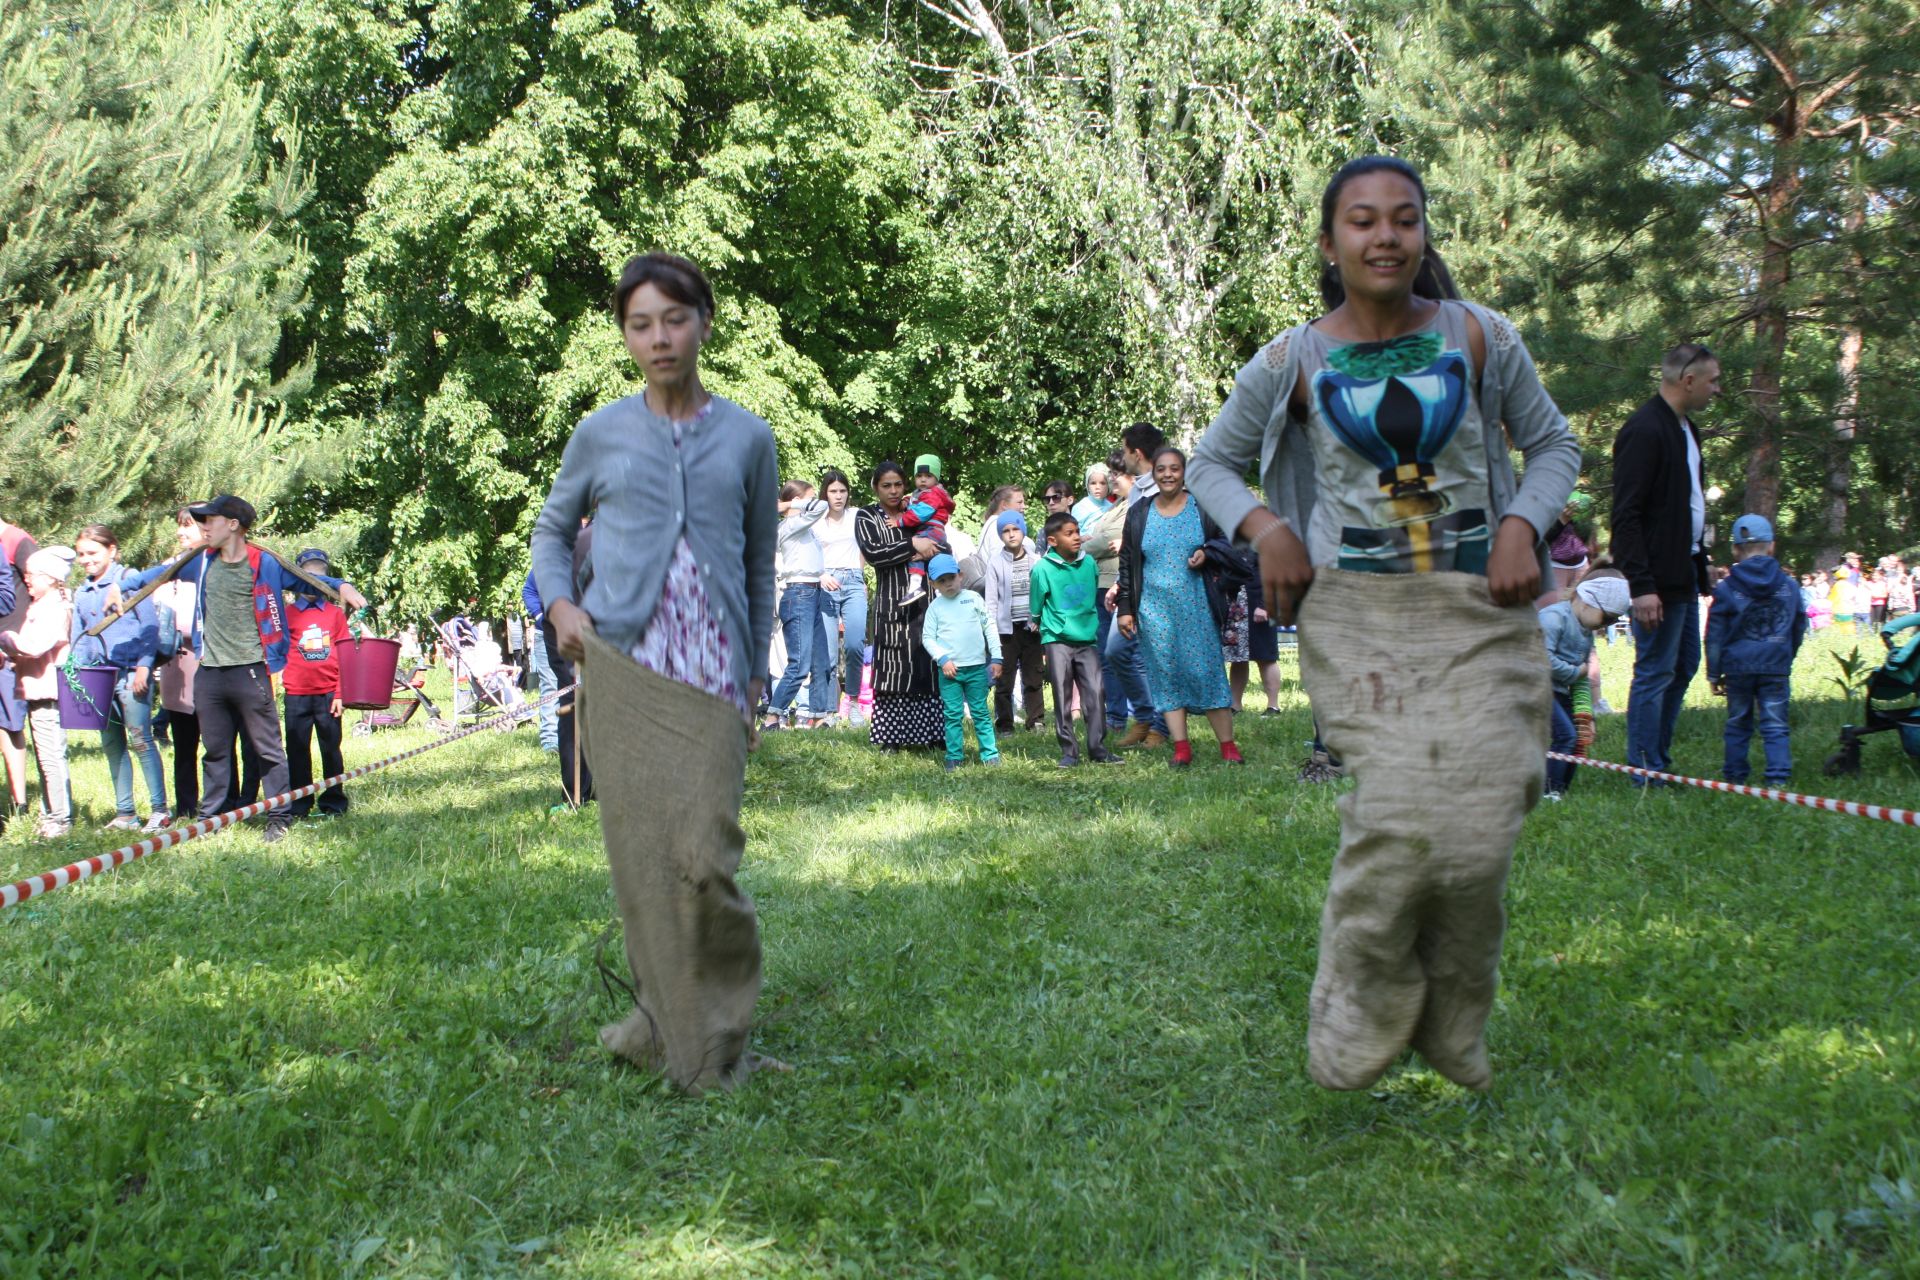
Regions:
[[900, 608], [908, 595], [906, 566], [914, 539], [887, 522], [887, 512], [862, 507], [854, 516], [860, 555], [874, 566], [874, 601], [868, 626], [874, 635], [874, 720], [868, 739], [876, 747], [939, 747], [947, 720], [933, 683], [933, 658], [920, 643], [927, 595]]

